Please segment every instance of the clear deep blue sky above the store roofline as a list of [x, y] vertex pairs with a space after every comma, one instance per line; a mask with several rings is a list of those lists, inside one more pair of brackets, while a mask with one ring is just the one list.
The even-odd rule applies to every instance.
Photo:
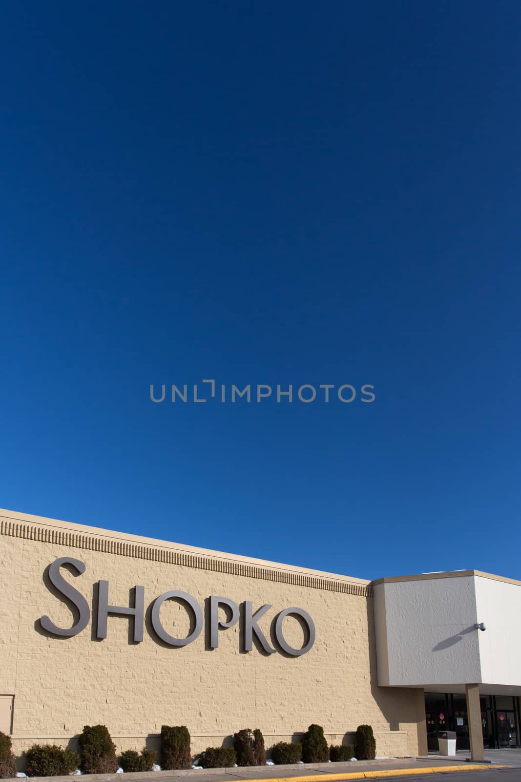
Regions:
[[[0, 506], [521, 577], [520, 25], [518, 2], [4, 5]], [[149, 398], [203, 378], [376, 400]]]

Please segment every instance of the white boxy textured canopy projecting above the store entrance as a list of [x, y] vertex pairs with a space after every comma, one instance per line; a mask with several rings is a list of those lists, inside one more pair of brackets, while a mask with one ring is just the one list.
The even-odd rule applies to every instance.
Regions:
[[380, 686], [521, 695], [521, 582], [462, 570], [373, 587]]

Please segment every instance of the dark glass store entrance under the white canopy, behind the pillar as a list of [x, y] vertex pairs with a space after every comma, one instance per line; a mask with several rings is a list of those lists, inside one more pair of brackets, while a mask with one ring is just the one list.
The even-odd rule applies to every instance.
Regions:
[[[505, 695], [482, 695], [480, 705], [484, 748], [521, 746], [518, 699]], [[455, 731], [456, 749], [470, 749], [466, 708], [465, 695], [426, 692], [425, 718], [429, 752], [437, 752], [437, 737], [443, 730]]]

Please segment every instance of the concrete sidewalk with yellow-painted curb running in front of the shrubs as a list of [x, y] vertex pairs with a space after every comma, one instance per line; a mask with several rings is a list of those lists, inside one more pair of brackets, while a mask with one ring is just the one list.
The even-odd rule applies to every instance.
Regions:
[[[394, 758], [346, 763], [294, 764], [291, 766], [242, 766], [231, 769], [187, 769], [178, 771], [150, 771], [128, 774], [82, 774], [73, 777], [78, 782], [339, 782], [339, 780], [378, 779], [379, 777], [401, 777], [416, 774], [441, 773], [443, 771], [476, 771], [478, 769], [505, 768], [503, 765], [480, 765], [448, 758]], [[31, 782], [71, 782], [71, 777], [31, 777]]]

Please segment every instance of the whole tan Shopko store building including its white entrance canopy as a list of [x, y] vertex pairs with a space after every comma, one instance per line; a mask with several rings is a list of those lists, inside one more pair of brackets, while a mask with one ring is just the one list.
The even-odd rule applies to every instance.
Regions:
[[480, 572], [369, 582], [0, 511], [0, 730], [21, 755], [186, 725], [199, 752], [370, 723], [379, 755], [453, 729], [479, 758], [520, 742], [520, 616], [521, 583]]

